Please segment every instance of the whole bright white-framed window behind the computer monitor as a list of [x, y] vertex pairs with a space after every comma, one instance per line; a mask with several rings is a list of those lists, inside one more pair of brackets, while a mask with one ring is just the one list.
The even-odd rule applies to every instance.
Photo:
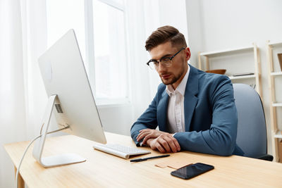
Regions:
[[48, 46], [71, 28], [97, 104], [128, 101], [123, 0], [47, 0]]

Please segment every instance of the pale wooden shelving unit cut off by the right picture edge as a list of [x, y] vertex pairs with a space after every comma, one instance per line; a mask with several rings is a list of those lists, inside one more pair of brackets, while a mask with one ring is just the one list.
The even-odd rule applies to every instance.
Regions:
[[[278, 156], [278, 139], [282, 139], [282, 131], [278, 130], [277, 113], [276, 108], [281, 108], [282, 103], [276, 102], [276, 89], [275, 89], [275, 77], [282, 76], [282, 72], [275, 72], [274, 70], [274, 49], [281, 48], [282, 42], [266, 42], [267, 57], [269, 61], [269, 91], [270, 91], [270, 118], [271, 118], [271, 137], [272, 137], [272, 151], [274, 154], [274, 161], [279, 161]], [[282, 53], [282, 50], [281, 50]], [[280, 162], [281, 159], [280, 159]]]

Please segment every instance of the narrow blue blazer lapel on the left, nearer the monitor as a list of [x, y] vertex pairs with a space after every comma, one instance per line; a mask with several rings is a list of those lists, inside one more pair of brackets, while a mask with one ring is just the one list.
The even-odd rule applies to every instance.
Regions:
[[157, 107], [157, 120], [159, 124], [159, 130], [167, 132], [166, 127], [166, 116], [167, 116], [167, 107], [168, 107], [168, 94], [166, 90], [161, 94], [161, 99]]

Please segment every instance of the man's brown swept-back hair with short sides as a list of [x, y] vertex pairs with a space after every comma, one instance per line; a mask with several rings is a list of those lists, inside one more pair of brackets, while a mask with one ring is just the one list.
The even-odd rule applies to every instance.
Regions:
[[157, 30], [152, 32], [146, 41], [145, 48], [147, 51], [151, 51], [154, 47], [165, 42], [171, 42], [172, 46], [187, 47], [185, 37], [175, 27], [166, 25], [159, 27]]

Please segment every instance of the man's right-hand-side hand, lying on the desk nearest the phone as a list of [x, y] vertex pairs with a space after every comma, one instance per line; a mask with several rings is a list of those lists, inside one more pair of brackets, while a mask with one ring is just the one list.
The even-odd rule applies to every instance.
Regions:
[[154, 150], [159, 150], [161, 153], [180, 151], [180, 145], [176, 138], [172, 134], [166, 133], [160, 134], [157, 138], [147, 139], [147, 144]]

